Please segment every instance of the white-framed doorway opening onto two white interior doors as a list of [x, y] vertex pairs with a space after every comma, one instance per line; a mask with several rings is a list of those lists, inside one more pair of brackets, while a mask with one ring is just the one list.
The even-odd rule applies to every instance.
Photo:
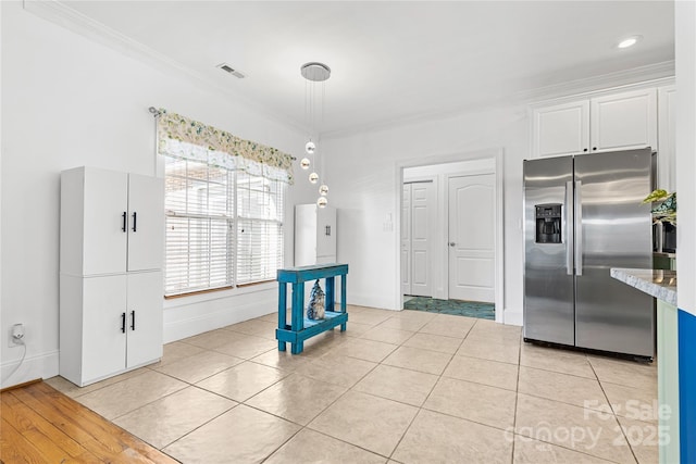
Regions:
[[[427, 165], [398, 166], [401, 308], [417, 299], [431, 298], [430, 308], [451, 308], [465, 300], [476, 308], [495, 305], [495, 319], [504, 322], [502, 151], [428, 161]], [[414, 212], [414, 188], [422, 190], [419, 213]], [[415, 214], [421, 220], [414, 225]], [[426, 251], [414, 244], [417, 235], [424, 238], [419, 244], [426, 243]], [[414, 287], [418, 279], [423, 285]]]

